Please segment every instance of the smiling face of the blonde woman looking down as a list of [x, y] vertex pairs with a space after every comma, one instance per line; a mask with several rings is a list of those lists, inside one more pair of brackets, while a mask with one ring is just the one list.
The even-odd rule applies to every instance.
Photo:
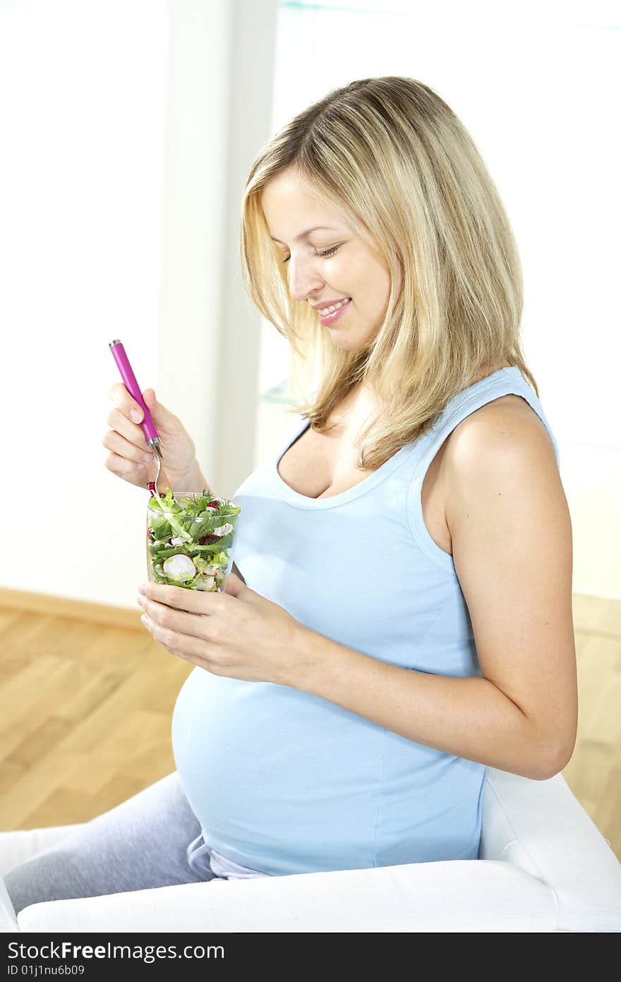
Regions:
[[[388, 268], [292, 168], [265, 186], [261, 205], [270, 235], [283, 252], [291, 300], [315, 307], [314, 316], [339, 348], [362, 351], [386, 313]], [[318, 307], [347, 299], [342, 310], [321, 318]]]

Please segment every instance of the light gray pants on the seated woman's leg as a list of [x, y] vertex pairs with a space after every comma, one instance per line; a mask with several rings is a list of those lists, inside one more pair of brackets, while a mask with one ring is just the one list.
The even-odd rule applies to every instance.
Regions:
[[62, 842], [37, 852], [4, 879], [18, 914], [42, 900], [257, 875], [265, 874], [237, 866], [204, 844], [174, 771], [86, 822]]

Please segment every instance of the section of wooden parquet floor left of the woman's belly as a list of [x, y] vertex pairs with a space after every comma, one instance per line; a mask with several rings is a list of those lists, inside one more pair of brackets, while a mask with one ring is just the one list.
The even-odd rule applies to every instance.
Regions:
[[0, 610], [1, 829], [85, 821], [175, 770], [171, 717], [192, 666], [135, 620]]

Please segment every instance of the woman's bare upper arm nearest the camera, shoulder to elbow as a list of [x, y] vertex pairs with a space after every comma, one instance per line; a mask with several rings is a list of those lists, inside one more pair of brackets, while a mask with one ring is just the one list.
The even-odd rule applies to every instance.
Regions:
[[535, 412], [486, 409], [449, 459], [453, 563], [483, 675], [520, 707], [560, 770], [578, 727], [569, 508]]

